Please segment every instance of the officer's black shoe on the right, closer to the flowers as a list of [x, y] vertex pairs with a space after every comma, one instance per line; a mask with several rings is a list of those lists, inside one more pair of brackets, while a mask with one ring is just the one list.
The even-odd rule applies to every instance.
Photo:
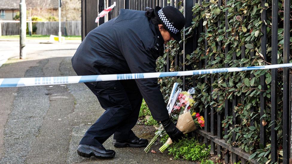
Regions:
[[124, 148], [127, 146], [141, 148], [148, 145], [148, 140], [142, 138], [139, 139], [137, 136], [135, 136], [130, 140], [114, 140], [113, 144], [116, 148]]

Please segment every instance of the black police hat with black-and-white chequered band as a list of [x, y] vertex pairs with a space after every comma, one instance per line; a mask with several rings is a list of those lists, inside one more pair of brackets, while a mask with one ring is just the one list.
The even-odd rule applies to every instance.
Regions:
[[165, 6], [163, 8], [156, 6], [154, 13], [159, 22], [176, 41], [182, 40], [180, 31], [185, 26], [185, 17], [180, 10], [173, 6]]

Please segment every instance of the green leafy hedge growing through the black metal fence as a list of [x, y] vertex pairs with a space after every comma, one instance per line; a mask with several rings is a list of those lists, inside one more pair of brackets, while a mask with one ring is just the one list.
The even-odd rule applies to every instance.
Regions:
[[[206, 31], [200, 33], [198, 39], [197, 49], [193, 53], [186, 56], [185, 65], [188, 69], [199, 69], [199, 62], [202, 63], [202, 68], [225, 68], [225, 64], [228, 67], [248, 67], [255, 65], [270, 65], [271, 64], [271, 22], [272, 22], [272, 1], [267, 0], [265, 9], [267, 13], [267, 20], [261, 21], [261, 0], [229, 0], [227, 6], [225, 1], [222, 1], [222, 6], [218, 7], [218, 0], [210, 0], [210, 2], [203, 2], [202, 5], [196, 4], [193, 7], [194, 19], [192, 20], [192, 26], [185, 29], [186, 36], [194, 34], [196, 28], [199, 28], [199, 22], [202, 20], [203, 27]], [[279, 24], [278, 24], [278, 64], [283, 63], [283, 0], [279, 0]], [[292, 6], [291, 6], [292, 7]], [[228, 10], [229, 29], [225, 30], [225, 11]], [[218, 28], [218, 20], [221, 24]], [[261, 54], [261, 25], [265, 23], [267, 28], [267, 54], [266, 59]], [[206, 33], [205, 33], [206, 32]], [[225, 34], [228, 33], [228, 38]], [[205, 41], [207, 46], [205, 47]], [[181, 41], [182, 42], [182, 41]], [[174, 66], [174, 56], [182, 56], [182, 49], [180, 43], [176, 41], [170, 41], [167, 44], [164, 58], [160, 58], [157, 61], [157, 69], [162, 71], [164, 60], [168, 53], [170, 58], [171, 69], [167, 71], [178, 71], [180, 67]], [[218, 48], [218, 42], [221, 42], [221, 47]], [[292, 42], [292, 37], [290, 37]], [[227, 46], [229, 51], [227, 56], [225, 50]], [[205, 54], [206, 49], [206, 54]], [[245, 53], [245, 57], [241, 59], [242, 50]], [[290, 51], [292, 46], [290, 44]], [[255, 56], [251, 57], [250, 53], [254, 52]], [[232, 55], [236, 53], [237, 59], [233, 60]], [[204, 61], [207, 59], [207, 64], [204, 65]], [[292, 59], [292, 58], [291, 58]], [[291, 62], [291, 61], [290, 61]], [[251, 74], [254, 75], [251, 78]], [[265, 75], [265, 83], [267, 85], [266, 90], [261, 88], [260, 76]], [[205, 76], [209, 79], [208, 82], [204, 80]], [[247, 153], [250, 153], [250, 159], [255, 159], [260, 163], [266, 163], [270, 161], [270, 130], [271, 130], [271, 70], [252, 70], [246, 72], [231, 72], [231, 73], [219, 73], [214, 76], [214, 83], [210, 83], [211, 77], [214, 75], [201, 75], [186, 77], [186, 88], [192, 86], [193, 82], [195, 86], [195, 107], [204, 111], [205, 105], [212, 105], [217, 112], [224, 113], [224, 101], [228, 99], [232, 101], [232, 96], [238, 96], [238, 104], [233, 108], [236, 112], [237, 122], [232, 121], [232, 114], [222, 120], [223, 128], [229, 127], [228, 134], [223, 138], [228, 139], [228, 143], [233, 146], [238, 146]], [[200, 80], [202, 79], [202, 80]], [[228, 82], [225, 82], [225, 79]], [[282, 101], [283, 101], [283, 72], [278, 69], [278, 84], [277, 86], [277, 118], [276, 118], [276, 131], [277, 131], [277, 143], [278, 143], [278, 162], [282, 162]], [[166, 77], [159, 80], [162, 93], [165, 95], [165, 100], [168, 99], [172, 85], [174, 82], [182, 83], [181, 79], [177, 77]], [[210, 91], [211, 85], [213, 91]], [[266, 110], [264, 111], [263, 122], [260, 122], [260, 93], [266, 97]], [[244, 102], [241, 102], [241, 96], [244, 96]], [[218, 101], [219, 97], [219, 101]], [[251, 108], [254, 107], [254, 112], [251, 112]], [[217, 113], [216, 113], [217, 114]], [[251, 126], [251, 120], [254, 119], [254, 126]], [[235, 128], [232, 128], [232, 124], [235, 124]], [[260, 144], [260, 124], [266, 126], [266, 146]], [[236, 141], [232, 142], [232, 133], [236, 134]]]

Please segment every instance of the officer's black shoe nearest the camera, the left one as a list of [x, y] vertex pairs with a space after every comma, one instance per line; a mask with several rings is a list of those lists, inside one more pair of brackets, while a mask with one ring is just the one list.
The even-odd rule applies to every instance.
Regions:
[[101, 146], [79, 145], [77, 149], [81, 157], [89, 158], [91, 156], [98, 158], [112, 158], [115, 157], [115, 151], [107, 150]]

